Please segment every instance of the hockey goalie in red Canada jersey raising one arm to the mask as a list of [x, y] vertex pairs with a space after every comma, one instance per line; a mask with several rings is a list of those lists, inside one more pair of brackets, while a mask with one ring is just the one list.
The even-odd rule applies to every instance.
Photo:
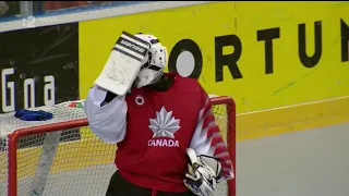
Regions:
[[207, 94], [167, 60], [155, 36], [123, 32], [88, 91], [91, 130], [118, 146], [107, 196], [212, 196], [233, 177]]

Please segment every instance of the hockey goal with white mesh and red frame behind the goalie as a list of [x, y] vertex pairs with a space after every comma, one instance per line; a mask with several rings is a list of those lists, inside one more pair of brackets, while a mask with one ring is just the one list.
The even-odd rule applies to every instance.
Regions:
[[[217, 124], [236, 170], [236, 110], [229, 97], [210, 98]], [[104, 196], [116, 145], [103, 143], [88, 128], [82, 102], [68, 101], [35, 110], [51, 112], [48, 121], [0, 118], [0, 196]], [[217, 196], [234, 196], [236, 183], [219, 184]]]

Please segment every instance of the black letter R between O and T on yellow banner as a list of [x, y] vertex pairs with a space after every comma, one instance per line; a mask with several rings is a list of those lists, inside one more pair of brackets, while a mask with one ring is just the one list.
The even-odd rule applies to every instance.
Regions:
[[[222, 54], [222, 48], [232, 46], [233, 52]], [[242, 78], [237, 62], [242, 52], [241, 40], [236, 35], [226, 35], [215, 38], [215, 59], [216, 59], [216, 82], [222, 81], [222, 68], [228, 66], [232, 78]]]

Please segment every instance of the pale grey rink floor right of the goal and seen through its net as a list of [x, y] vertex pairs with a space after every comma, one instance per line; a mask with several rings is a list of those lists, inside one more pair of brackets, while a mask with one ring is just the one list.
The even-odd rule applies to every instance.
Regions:
[[[348, 196], [348, 128], [341, 124], [238, 143], [237, 196]], [[103, 196], [113, 171], [111, 164], [55, 175], [46, 189], [50, 194], [44, 195]], [[226, 195], [219, 189], [217, 196]]]

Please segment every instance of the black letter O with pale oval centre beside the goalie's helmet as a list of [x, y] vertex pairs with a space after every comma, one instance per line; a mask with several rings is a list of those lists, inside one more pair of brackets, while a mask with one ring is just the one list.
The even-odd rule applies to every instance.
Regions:
[[183, 51], [191, 52], [195, 61], [194, 70], [189, 77], [198, 78], [203, 69], [203, 54], [201, 53], [201, 49], [196, 42], [191, 39], [182, 39], [174, 45], [168, 60], [168, 71], [177, 72], [177, 59]]

